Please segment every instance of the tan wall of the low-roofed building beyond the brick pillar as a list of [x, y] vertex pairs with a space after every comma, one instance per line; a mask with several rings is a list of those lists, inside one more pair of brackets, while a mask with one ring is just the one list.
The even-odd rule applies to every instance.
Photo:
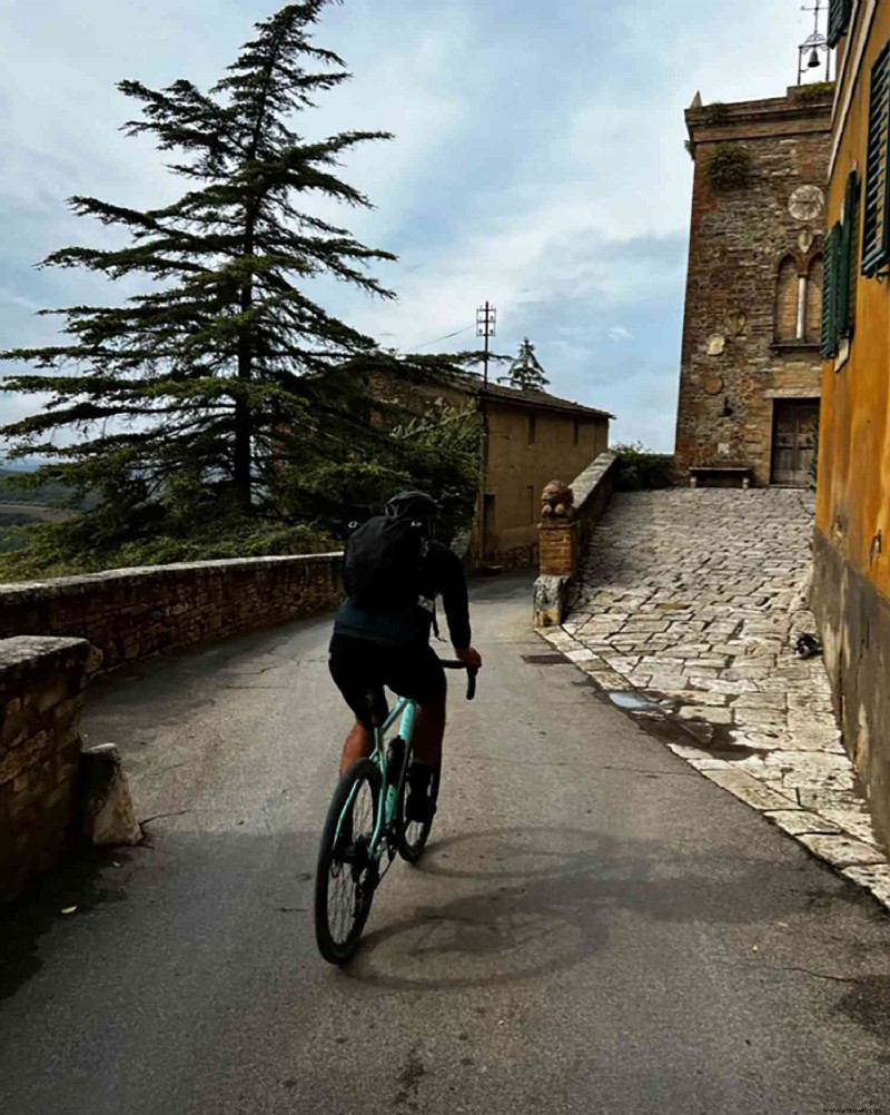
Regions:
[[541, 492], [552, 479], [571, 484], [606, 452], [609, 421], [491, 400], [487, 421], [481, 556], [509, 568], [534, 565]]

